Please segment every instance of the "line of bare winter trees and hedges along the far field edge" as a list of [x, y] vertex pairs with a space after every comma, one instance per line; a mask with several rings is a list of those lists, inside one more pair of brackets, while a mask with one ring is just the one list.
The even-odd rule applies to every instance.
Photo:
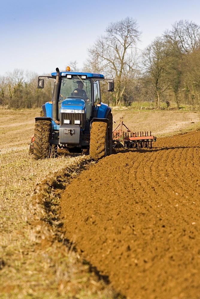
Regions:
[[[102, 101], [114, 106], [130, 106], [148, 101], [160, 109], [162, 103], [200, 108], [200, 26], [180, 20], [157, 36], [143, 51], [137, 48], [141, 32], [131, 17], [110, 23], [88, 49], [81, 71], [97, 72], [115, 81], [107, 92], [101, 83]], [[77, 71], [77, 62], [70, 63]], [[16, 69], [0, 77], [0, 106], [35, 108], [52, 97], [53, 80], [37, 89], [37, 74]]]

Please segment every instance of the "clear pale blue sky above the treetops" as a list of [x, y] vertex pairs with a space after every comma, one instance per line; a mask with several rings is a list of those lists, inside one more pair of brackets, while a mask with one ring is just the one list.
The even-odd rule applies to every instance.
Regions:
[[50, 73], [74, 60], [81, 68], [97, 36], [126, 16], [137, 20], [143, 49], [175, 21], [200, 25], [200, 1], [0, 0], [0, 75]]

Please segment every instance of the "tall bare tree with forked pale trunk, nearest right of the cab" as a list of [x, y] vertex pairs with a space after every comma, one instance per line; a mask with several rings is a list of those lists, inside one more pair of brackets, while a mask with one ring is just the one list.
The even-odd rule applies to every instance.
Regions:
[[105, 32], [89, 49], [85, 70], [101, 71], [115, 79], [115, 103], [119, 106], [126, 84], [136, 72], [136, 42], [141, 33], [130, 17], [110, 23]]

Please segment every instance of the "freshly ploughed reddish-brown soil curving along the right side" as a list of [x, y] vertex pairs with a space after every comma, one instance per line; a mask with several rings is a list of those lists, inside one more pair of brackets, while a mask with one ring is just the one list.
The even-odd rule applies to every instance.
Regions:
[[72, 181], [65, 236], [133, 299], [200, 298], [200, 131], [121, 150]]

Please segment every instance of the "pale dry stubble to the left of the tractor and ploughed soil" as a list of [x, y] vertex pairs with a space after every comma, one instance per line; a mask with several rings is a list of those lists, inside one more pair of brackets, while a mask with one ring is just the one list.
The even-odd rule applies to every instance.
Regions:
[[39, 110], [0, 112], [0, 297], [117, 298], [59, 234], [53, 186], [62, 174], [64, 187], [66, 177], [76, 176], [90, 159], [71, 154], [33, 160], [28, 143]]

